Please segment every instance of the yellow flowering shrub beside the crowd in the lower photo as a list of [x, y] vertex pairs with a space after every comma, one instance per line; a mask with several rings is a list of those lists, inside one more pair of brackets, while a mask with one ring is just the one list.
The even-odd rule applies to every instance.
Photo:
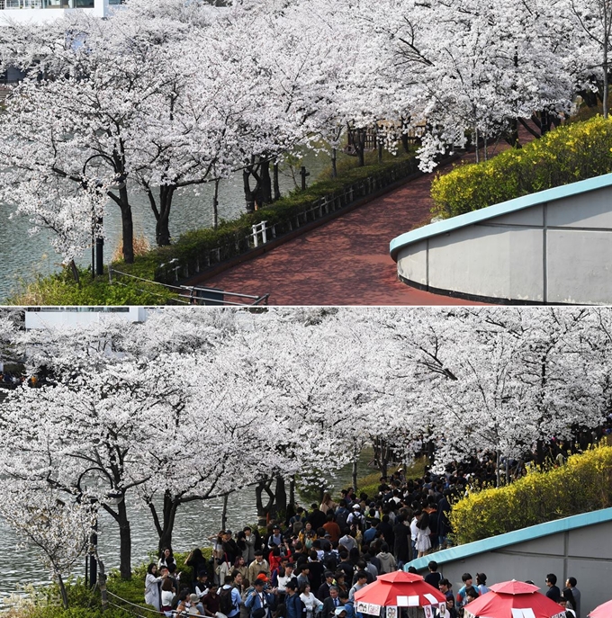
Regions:
[[474, 491], [456, 502], [450, 522], [466, 543], [612, 506], [612, 447], [599, 446], [553, 470], [533, 470], [503, 488]]

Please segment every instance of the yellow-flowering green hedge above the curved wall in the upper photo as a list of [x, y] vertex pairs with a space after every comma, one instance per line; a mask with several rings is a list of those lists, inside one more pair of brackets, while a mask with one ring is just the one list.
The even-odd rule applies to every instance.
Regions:
[[489, 161], [457, 166], [431, 185], [432, 214], [448, 218], [612, 172], [612, 120], [596, 116]]

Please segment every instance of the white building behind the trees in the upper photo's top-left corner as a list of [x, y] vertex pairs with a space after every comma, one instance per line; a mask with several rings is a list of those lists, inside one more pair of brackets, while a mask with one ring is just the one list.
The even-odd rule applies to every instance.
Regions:
[[0, 0], [0, 26], [7, 22], [48, 22], [71, 11], [106, 17], [122, 0]]

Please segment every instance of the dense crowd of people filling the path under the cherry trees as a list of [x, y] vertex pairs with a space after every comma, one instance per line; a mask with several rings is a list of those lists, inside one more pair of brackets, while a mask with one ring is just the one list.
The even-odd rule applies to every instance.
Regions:
[[[509, 462], [510, 463], [510, 462]], [[518, 469], [518, 462], [511, 462]], [[283, 521], [271, 519], [265, 533], [245, 526], [238, 533], [220, 531], [210, 540], [212, 557], [194, 549], [178, 573], [172, 550], [148, 566], [145, 600], [166, 616], [185, 613], [209, 618], [361, 618], [356, 591], [410, 560], [449, 545], [450, 503], [470, 483], [486, 482], [497, 473], [493, 460], [467, 461], [435, 475], [407, 480], [403, 470], [381, 478], [375, 497], [352, 488], [338, 503], [326, 493], [309, 510], [288, 507]], [[410, 568], [409, 570], [413, 570]], [[425, 577], [445, 594], [446, 613], [463, 614], [464, 606], [488, 591], [486, 576], [476, 582], [464, 575], [456, 593], [429, 563]], [[580, 616], [580, 593], [569, 578], [562, 592], [553, 574], [548, 595], [569, 616]], [[560, 612], [563, 609], [560, 606]]]

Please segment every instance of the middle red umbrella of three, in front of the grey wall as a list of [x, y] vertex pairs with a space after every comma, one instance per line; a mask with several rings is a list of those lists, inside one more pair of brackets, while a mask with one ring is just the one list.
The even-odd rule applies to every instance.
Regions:
[[522, 581], [505, 581], [465, 605], [464, 618], [565, 618], [565, 609]]

